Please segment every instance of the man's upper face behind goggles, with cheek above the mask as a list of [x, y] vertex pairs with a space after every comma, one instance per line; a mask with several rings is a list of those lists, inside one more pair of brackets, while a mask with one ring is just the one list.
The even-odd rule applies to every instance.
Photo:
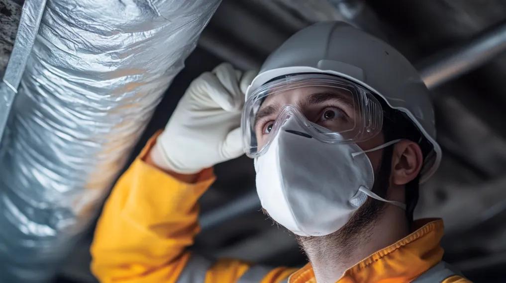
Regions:
[[[300, 109], [311, 122], [325, 127], [343, 136], [353, 136], [360, 125], [358, 102], [346, 88], [329, 86], [304, 86], [283, 91], [273, 91], [262, 103], [255, 120], [255, 134], [258, 147], [262, 148], [269, 139], [270, 131], [283, 106], [292, 105]], [[383, 134], [357, 143], [362, 150], [368, 150], [383, 144]], [[339, 146], [339, 145], [336, 145]], [[367, 153], [377, 172], [382, 151]]]

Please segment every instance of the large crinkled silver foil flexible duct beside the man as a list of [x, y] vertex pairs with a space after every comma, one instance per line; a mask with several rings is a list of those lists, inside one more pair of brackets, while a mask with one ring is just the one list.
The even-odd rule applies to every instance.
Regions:
[[51, 278], [219, 3], [47, 1], [0, 146], [0, 281]]

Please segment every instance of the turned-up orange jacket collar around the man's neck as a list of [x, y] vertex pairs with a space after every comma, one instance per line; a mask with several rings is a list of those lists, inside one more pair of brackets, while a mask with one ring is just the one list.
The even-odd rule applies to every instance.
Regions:
[[[395, 282], [408, 282], [441, 261], [443, 249], [439, 242], [443, 237], [443, 220], [420, 219], [416, 230], [391, 246], [379, 250], [345, 271], [337, 281], [379, 282], [395, 278]], [[315, 283], [311, 264], [293, 273], [290, 283]]]

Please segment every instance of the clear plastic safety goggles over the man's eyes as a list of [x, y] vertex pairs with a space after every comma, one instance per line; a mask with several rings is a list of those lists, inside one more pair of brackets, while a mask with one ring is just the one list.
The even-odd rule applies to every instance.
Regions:
[[290, 117], [304, 129], [302, 134], [335, 144], [365, 141], [383, 123], [381, 104], [356, 83], [326, 74], [285, 76], [254, 90], [245, 102], [241, 128], [246, 155], [262, 155]]

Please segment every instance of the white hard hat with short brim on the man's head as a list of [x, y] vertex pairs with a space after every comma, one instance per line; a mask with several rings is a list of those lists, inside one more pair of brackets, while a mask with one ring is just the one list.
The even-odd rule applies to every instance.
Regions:
[[246, 100], [266, 82], [288, 74], [325, 73], [351, 80], [405, 113], [432, 144], [420, 173], [426, 181], [438, 168], [430, 91], [416, 69], [388, 43], [344, 22], [320, 22], [288, 38], [263, 64], [246, 91]]

